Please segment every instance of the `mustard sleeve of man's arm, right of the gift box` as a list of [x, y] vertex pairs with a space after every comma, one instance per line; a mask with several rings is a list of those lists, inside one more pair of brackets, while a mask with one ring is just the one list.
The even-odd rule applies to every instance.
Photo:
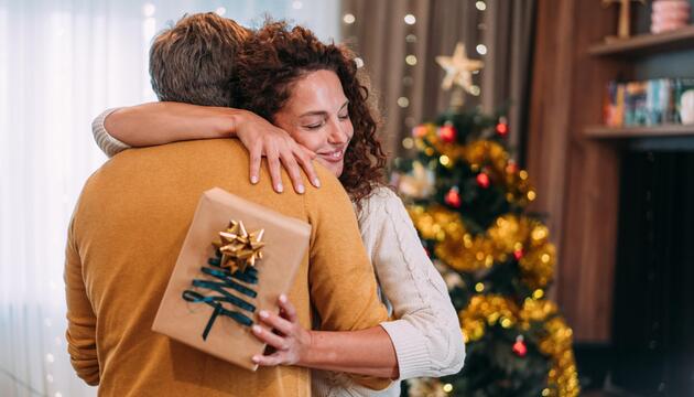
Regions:
[[[356, 331], [378, 326], [388, 311], [378, 297], [369, 256], [361, 244], [351, 203], [339, 181], [316, 168], [321, 190], [304, 197], [312, 226], [308, 266], [311, 302], [325, 331]], [[319, 194], [318, 194], [319, 193]], [[369, 389], [382, 390], [391, 379], [349, 375]]]

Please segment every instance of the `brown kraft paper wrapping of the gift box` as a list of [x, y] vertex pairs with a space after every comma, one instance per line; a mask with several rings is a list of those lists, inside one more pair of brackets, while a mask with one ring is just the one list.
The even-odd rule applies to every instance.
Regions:
[[236, 310], [257, 323], [258, 312], [278, 312], [276, 300], [286, 293], [294, 281], [299, 266], [306, 255], [311, 225], [288, 217], [259, 204], [235, 196], [221, 189], [203, 193], [193, 223], [181, 248], [175, 268], [156, 312], [152, 331], [167, 335], [218, 358], [256, 371], [251, 357], [262, 354], [265, 345], [250, 332], [250, 326], [241, 325], [231, 318], [218, 315], [207, 340], [203, 332], [215, 309], [204, 302], [188, 302], [183, 299], [185, 290], [195, 290], [203, 296], [218, 296], [217, 292], [193, 287], [194, 279], [214, 280], [200, 271], [209, 258], [215, 257], [213, 242], [219, 240], [219, 232], [226, 230], [229, 222], [243, 222], [248, 233], [264, 229], [262, 259], [256, 262], [258, 283], [247, 285], [258, 292], [250, 299], [234, 289], [225, 290], [253, 304], [253, 313], [240, 310], [230, 303], [225, 309]]

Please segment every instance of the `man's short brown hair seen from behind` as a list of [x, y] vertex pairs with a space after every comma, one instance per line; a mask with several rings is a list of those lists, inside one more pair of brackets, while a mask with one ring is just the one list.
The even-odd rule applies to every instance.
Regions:
[[228, 82], [236, 53], [251, 32], [214, 12], [184, 15], [150, 49], [152, 88], [160, 100], [231, 106]]

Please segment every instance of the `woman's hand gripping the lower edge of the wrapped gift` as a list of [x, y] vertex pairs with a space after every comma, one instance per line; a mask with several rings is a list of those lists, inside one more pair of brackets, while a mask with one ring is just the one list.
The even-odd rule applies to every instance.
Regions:
[[311, 331], [299, 323], [294, 305], [284, 294], [280, 296], [279, 304], [281, 316], [261, 310], [258, 315], [262, 325], [256, 324], [251, 329], [256, 337], [275, 348], [270, 355], [254, 355], [252, 360], [258, 365], [300, 364], [311, 347]]

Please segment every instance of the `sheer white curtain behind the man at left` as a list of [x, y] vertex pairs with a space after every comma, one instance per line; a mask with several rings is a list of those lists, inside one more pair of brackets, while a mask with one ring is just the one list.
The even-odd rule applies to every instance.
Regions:
[[337, 37], [339, 2], [0, 0], [0, 396], [80, 397], [66, 353], [63, 260], [79, 191], [106, 158], [106, 108], [154, 100], [151, 37], [185, 12], [268, 11]]

